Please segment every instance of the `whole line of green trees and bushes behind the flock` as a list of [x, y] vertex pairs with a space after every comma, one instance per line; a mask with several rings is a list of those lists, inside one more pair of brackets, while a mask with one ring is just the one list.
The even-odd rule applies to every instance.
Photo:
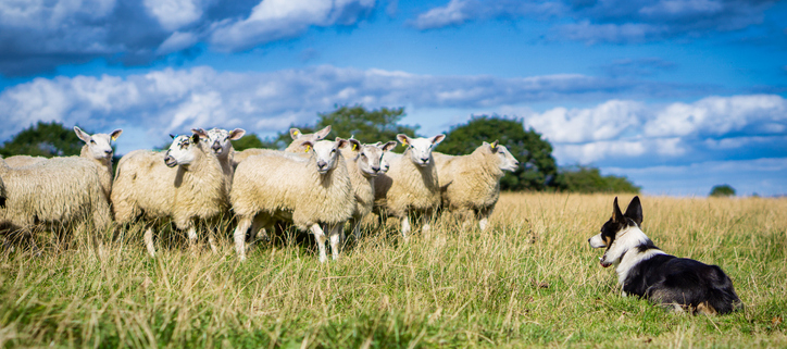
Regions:
[[[403, 108], [380, 108], [367, 110], [363, 105], [337, 105], [334, 111], [318, 113], [316, 123], [292, 125], [303, 133], [312, 133], [327, 125], [332, 126], [332, 137], [354, 137], [361, 142], [396, 140], [397, 134], [422, 136], [419, 125], [402, 124]], [[434, 135], [428, 135], [434, 136]], [[571, 191], [571, 192], [634, 192], [640, 187], [623, 176], [601, 175], [591, 166], [559, 167], [552, 157], [552, 145], [535, 129], [525, 129], [522, 120], [499, 115], [472, 116], [464, 124], [455, 125], [446, 132], [446, 140], [436, 151], [462, 155], [473, 152], [483, 141], [495, 141], [505, 146], [521, 162], [513, 173], [507, 173], [500, 182], [502, 190], [523, 191]], [[260, 138], [247, 134], [233, 141], [236, 150], [247, 148], [284, 149], [290, 142], [289, 130], [277, 136]], [[79, 154], [82, 141], [71, 128], [51, 122], [33, 125], [0, 148], [0, 155], [30, 154], [39, 157]], [[168, 145], [166, 145], [168, 147]], [[401, 151], [397, 148], [395, 151]], [[115, 161], [116, 163], [116, 161]]]

